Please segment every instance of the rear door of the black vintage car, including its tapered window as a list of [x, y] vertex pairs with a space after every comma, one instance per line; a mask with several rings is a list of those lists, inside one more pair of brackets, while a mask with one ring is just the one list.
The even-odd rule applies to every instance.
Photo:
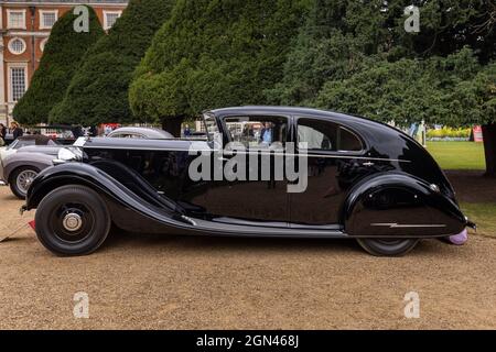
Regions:
[[293, 226], [338, 226], [339, 209], [349, 187], [370, 169], [363, 140], [351, 129], [330, 119], [293, 117], [298, 156], [305, 157], [308, 185], [290, 195]]

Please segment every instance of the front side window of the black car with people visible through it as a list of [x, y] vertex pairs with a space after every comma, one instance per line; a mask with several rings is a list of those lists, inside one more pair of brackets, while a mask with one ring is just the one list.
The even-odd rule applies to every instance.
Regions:
[[288, 119], [282, 117], [228, 117], [224, 120], [231, 142], [245, 147], [283, 147], [288, 135]]

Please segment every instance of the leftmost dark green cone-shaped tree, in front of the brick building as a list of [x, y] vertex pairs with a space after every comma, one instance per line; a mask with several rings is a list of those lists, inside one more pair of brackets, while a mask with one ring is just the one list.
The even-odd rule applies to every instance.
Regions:
[[86, 51], [104, 35], [95, 11], [89, 10], [89, 32], [76, 32], [77, 15], [67, 11], [53, 26], [40, 67], [31, 86], [13, 109], [22, 124], [47, 123], [48, 113], [58, 103]]

